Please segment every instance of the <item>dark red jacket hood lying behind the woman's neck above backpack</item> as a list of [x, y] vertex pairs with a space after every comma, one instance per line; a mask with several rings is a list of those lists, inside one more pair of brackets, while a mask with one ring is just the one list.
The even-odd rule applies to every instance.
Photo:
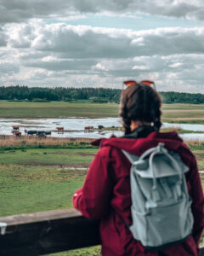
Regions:
[[111, 137], [108, 139], [99, 139], [94, 141], [94, 146], [124, 149], [130, 154], [143, 154], [148, 148], [153, 148], [158, 143], [164, 143], [165, 148], [173, 151], [177, 151], [179, 147], [187, 148], [184, 145], [183, 140], [178, 137], [177, 131], [172, 132], [157, 132], [153, 131], [148, 137], [145, 138], [124, 138], [124, 137]]

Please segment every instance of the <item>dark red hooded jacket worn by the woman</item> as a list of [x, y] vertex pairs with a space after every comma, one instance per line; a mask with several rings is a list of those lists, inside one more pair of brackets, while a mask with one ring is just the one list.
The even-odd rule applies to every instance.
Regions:
[[[189, 166], [186, 179], [192, 198], [195, 219], [193, 233], [183, 243], [164, 249], [160, 253], [147, 252], [139, 241], [133, 239], [127, 224], [132, 224], [130, 195], [130, 163], [121, 149], [141, 155], [159, 143], [177, 152]], [[94, 143], [99, 144], [99, 141]], [[195, 156], [178, 137], [177, 132], [151, 132], [148, 137], [110, 138], [100, 141], [101, 148], [95, 155], [82, 186], [73, 196], [73, 204], [87, 218], [100, 218], [102, 255], [198, 255], [199, 239], [204, 227], [204, 199]], [[168, 230], [167, 230], [168, 231]]]

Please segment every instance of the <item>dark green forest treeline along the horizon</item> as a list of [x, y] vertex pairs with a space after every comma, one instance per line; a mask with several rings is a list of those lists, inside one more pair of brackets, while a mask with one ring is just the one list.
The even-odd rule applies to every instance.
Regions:
[[[104, 88], [0, 86], [0, 100], [31, 102], [120, 102], [121, 91], [118, 89]], [[204, 94], [200, 93], [191, 94], [174, 91], [161, 91], [159, 93], [164, 103], [204, 103]]]

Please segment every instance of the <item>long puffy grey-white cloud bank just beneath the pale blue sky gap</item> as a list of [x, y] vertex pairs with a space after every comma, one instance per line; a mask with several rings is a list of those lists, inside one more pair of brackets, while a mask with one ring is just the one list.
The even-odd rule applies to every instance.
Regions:
[[135, 32], [63, 23], [8, 27], [12, 48], [59, 54], [63, 58], [122, 58], [136, 55], [202, 53], [204, 27], [158, 28]]

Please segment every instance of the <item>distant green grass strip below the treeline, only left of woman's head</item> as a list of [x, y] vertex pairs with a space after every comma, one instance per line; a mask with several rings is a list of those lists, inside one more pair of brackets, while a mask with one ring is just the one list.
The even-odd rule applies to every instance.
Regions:
[[70, 102], [0, 102], [0, 117], [8, 118], [64, 118], [117, 117], [118, 104]]

